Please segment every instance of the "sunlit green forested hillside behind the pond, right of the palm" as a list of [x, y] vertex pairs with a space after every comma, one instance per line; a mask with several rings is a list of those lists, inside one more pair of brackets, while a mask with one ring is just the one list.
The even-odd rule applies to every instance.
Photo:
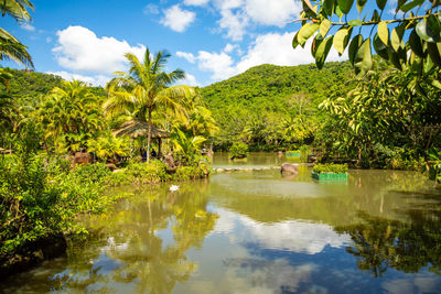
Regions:
[[321, 116], [318, 105], [344, 96], [353, 72], [348, 62], [315, 65], [260, 65], [201, 89], [219, 127], [215, 146], [241, 140], [257, 150], [311, 141]]

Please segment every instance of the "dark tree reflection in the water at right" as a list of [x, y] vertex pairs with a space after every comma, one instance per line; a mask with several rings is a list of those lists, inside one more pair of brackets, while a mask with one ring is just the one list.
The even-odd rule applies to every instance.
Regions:
[[362, 222], [335, 228], [348, 233], [353, 246], [346, 251], [357, 258], [357, 266], [375, 277], [390, 269], [417, 273], [423, 268], [441, 273], [441, 193], [399, 193], [416, 202], [413, 208], [399, 209], [405, 220], [361, 213]]

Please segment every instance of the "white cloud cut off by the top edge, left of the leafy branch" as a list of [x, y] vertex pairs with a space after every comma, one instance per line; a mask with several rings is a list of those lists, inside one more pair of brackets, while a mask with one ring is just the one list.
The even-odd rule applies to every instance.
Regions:
[[245, 11], [256, 23], [283, 26], [289, 20], [300, 15], [302, 6], [294, 0], [247, 0]]

